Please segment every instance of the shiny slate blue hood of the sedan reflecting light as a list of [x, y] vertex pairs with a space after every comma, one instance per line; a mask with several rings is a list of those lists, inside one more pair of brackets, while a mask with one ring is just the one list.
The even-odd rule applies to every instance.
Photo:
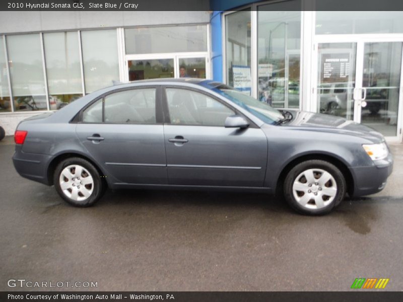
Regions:
[[293, 118], [290, 122], [283, 124], [284, 127], [347, 134], [361, 137], [374, 143], [384, 141], [383, 135], [378, 131], [343, 117], [305, 111], [287, 111], [293, 115]]

